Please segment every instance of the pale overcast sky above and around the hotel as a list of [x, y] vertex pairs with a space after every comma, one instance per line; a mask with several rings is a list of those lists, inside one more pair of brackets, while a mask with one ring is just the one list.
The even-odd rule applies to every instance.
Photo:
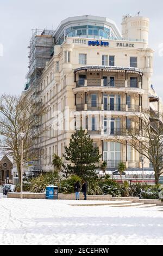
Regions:
[[0, 94], [20, 94], [24, 88], [32, 28], [55, 29], [67, 17], [95, 15], [109, 17], [121, 30], [124, 14], [135, 16], [141, 11], [140, 16], [151, 21], [149, 46], [155, 50], [152, 84], [163, 98], [162, 9], [161, 0], [0, 0]]

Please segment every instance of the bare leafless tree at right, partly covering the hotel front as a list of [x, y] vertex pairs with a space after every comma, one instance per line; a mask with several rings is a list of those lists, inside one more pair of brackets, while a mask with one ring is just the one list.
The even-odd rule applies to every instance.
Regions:
[[[136, 114], [135, 114], [136, 115]], [[139, 121], [138, 121], [139, 120]], [[129, 138], [129, 144], [146, 157], [153, 165], [155, 183], [159, 183], [159, 177], [163, 174], [163, 118], [158, 111], [143, 110], [141, 116], [136, 115], [136, 129], [123, 129], [122, 136], [116, 136], [115, 140], [125, 144]], [[138, 128], [139, 127], [139, 128]]]

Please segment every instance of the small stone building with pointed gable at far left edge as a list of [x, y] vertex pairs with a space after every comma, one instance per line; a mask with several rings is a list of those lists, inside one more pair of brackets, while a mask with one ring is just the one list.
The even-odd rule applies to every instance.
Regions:
[[4, 155], [0, 158], [0, 186], [5, 183], [12, 183], [12, 163], [10, 159]]

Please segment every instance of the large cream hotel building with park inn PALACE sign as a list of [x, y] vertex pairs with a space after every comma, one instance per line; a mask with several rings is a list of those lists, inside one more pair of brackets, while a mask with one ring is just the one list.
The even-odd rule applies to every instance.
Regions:
[[[43, 107], [34, 128], [43, 128], [43, 135], [34, 146], [44, 153], [34, 160], [35, 170], [52, 170], [52, 154], [62, 157], [80, 126], [99, 147], [108, 170], [120, 162], [142, 168], [124, 128], [140, 131], [142, 110], [159, 109], [148, 33], [148, 18], [129, 15], [123, 17], [122, 34], [114, 21], [87, 15], [61, 21], [55, 31], [34, 33], [23, 97], [35, 98], [37, 111]], [[145, 168], [150, 167], [146, 159]]]

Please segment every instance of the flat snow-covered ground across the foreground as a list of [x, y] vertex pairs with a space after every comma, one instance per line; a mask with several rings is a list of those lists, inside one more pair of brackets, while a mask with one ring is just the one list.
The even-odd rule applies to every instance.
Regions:
[[79, 201], [7, 199], [1, 194], [0, 245], [163, 245], [159, 206], [68, 205], [72, 203]]

